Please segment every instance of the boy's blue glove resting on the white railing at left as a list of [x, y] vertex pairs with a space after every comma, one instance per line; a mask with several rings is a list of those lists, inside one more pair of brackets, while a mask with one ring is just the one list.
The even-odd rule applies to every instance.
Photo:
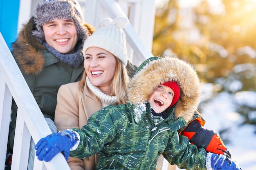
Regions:
[[40, 161], [50, 161], [58, 153], [64, 151], [64, 157], [67, 160], [72, 148], [79, 141], [76, 133], [72, 130], [52, 133], [38, 141], [35, 146], [36, 156]]

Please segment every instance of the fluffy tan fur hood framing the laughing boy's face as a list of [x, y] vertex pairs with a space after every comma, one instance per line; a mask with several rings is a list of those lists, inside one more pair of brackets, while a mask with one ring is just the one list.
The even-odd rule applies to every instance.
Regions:
[[128, 85], [128, 99], [132, 104], [144, 103], [154, 89], [166, 81], [180, 85], [180, 98], [175, 118], [191, 120], [200, 103], [200, 80], [195, 69], [174, 57], [151, 57], [142, 63]]

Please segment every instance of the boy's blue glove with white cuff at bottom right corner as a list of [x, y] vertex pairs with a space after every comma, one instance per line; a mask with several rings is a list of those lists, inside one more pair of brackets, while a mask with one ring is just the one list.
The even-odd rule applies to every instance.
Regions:
[[207, 153], [205, 165], [210, 170], [242, 170], [238, 163], [227, 156], [210, 152]]

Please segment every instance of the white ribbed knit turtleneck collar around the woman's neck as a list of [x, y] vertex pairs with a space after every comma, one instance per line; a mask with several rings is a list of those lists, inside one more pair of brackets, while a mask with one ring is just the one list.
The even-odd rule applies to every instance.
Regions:
[[108, 96], [107, 94], [101, 92], [99, 87], [92, 85], [92, 82], [90, 81], [90, 79], [88, 77], [86, 77], [86, 84], [89, 87], [89, 89], [92, 91], [92, 93], [95, 94], [101, 100], [102, 108], [106, 107], [108, 105], [117, 104], [116, 96]]

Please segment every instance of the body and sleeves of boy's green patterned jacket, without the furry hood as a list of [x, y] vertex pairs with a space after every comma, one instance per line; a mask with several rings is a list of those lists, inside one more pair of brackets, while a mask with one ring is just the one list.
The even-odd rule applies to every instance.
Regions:
[[177, 133], [186, 124], [184, 119], [174, 120], [172, 112], [155, 126], [150, 109], [148, 102], [141, 105], [128, 102], [94, 113], [88, 125], [77, 131], [80, 144], [70, 156], [85, 158], [99, 152], [97, 169], [100, 170], [154, 170], [161, 154], [180, 168], [205, 169], [205, 150], [198, 150], [189, 144], [187, 137]]

